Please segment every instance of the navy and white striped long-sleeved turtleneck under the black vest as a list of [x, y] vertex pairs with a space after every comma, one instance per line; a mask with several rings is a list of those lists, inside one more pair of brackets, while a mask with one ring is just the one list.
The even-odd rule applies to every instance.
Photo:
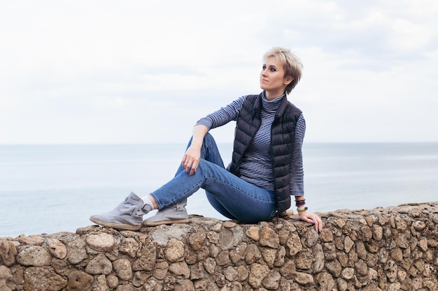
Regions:
[[[264, 95], [262, 96], [262, 124], [244, 154], [240, 166], [241, 179], [269, 191], [274, 191], [274, 175], [272, 173], [271, 154], [269, 154], [271, 124], [283, 98], [286, 98], [285, 95], [274, 100], [267, 100]], [[246, 96], [242, 96], [229, 105], [220, 108], [220, 110], [199, 119], [197, 124], [202, 124], [211, 130], [230, 121], [236, 121], [245, 100]], [[295, 127], [295, 140], [290, 159], [290, 195], [304, 195], [302, 142], [305, 131], [306, 121], [303, 114], [301, 114]]]

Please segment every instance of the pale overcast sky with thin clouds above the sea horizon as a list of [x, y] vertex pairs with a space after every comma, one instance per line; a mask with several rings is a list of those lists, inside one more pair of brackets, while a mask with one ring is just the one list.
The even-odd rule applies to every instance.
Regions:
[[0, 3], [0, 144], [186, 142], [273, 46], [306, 142], [438, 142], [436, 0]]

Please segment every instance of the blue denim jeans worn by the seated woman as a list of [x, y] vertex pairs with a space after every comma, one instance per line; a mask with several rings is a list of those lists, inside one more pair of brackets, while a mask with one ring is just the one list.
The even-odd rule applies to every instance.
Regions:
[[[192, 140], [190, 139], [189, 146]], [[201, 160], [195, 174], [180, 165], [174, 179], [150, 193], [158, 208], [168, 207], [203, 188], [207, 198], [220, 214], [243, 223], [268, 221], [276, 213], [273, 191], [268, 191], [236, 177], [225, 169], [213, 136], [207, 133], [201, 149]]]

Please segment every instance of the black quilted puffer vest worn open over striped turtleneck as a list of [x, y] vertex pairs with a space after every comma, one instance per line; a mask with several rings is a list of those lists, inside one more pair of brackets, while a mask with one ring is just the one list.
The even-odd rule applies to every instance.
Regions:
[[[243, 154], [253, 141], [262, 120], [262, 94], [249, 95], [237, 117], [232, 162], [229, 172], [240, 177], [239, 168]], [[271, 126], [271, 157], [274, 174], [274, 191], [278, 214], [290, 207], [290, 158], [292, 156], [295, 125], [302, 113], [287, 98], [283, 98]]]

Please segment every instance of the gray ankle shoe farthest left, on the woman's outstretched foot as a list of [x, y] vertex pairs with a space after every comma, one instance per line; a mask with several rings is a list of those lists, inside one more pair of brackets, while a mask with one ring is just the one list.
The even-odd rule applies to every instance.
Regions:
[[144, 204], [139, 196], [131, 192], [115, 209], [104, 214], [93, 215], [90, 221], [120, 230], [139, 230], [143, 215], [151, 210], [153, 210], [152, 206]]

